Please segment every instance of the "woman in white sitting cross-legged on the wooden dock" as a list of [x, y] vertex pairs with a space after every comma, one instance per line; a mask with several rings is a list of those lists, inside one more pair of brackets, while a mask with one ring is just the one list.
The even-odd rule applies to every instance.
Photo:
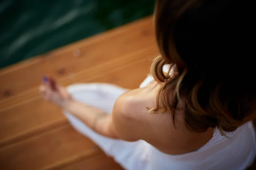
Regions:
[[157, 0], [154, 79], [129, 91], [107, 84], [66, 91], [45, 77], [41, 92], [127, 170], [243, 170], [256, 155], [249, 7]]

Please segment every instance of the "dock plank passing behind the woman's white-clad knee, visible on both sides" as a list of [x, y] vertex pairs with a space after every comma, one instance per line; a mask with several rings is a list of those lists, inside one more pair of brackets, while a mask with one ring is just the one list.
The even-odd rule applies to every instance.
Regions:
[[[71, 80], [66, 79], [66, 82], [62, 81], [62, 84], [70, 84], [68, 81], [82, 82], [84, 80], [108, 82], [125, 88], [137, 88], [149, 71], [150, 61], [147, 56], [154, 56], [157, 51], [154, 51], [154, 54], [151, 53], [152, 51], [139, 53], [140, 57], [142, 57], [140, 60], [134, 58], [135, 56], [128, 56], [129, 59], [134, 58], [134, 62], [129, 62], [126, 65], [120, 65], [122, 62], [112, 63], [111, 69], [95, 74], [94, 77], [89, 77], [89, 75], [85, 74], [83, 75], [84, 77], [76, 76]], [[90, 72], [96, 71], [97, 69]], [[23, 99], [24, 102], [26, 102], [25, 99]], [[12, 105], [12, 108], [0, 112], [0, 129], [5, 129], [0, 131], [1, 147], [35, 133], [49, 130], [65, 121], [59, 108], [45, 102], [38, 92], [35, 93], [34, 98], [29, 98], [26, 103], [21, 104], [17, 107]]]

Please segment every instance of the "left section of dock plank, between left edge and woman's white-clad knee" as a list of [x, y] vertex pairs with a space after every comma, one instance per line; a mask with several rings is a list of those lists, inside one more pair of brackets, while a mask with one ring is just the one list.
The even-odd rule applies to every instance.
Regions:
[[0, 114], [0, 147], [49, 130], [65, 121], [61, 110], [42, 98]]

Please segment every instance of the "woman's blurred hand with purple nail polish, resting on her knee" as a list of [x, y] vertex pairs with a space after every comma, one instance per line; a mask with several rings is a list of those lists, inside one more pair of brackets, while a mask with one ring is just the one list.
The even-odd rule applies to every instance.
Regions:
[[66, 89], [58, 85], [51, 77], [44, 77], [43, 82], [43, 85], [40, 86], [40, 91], [45, 100], [58, 106], [63, 106], [65, 102], [72, 100]]

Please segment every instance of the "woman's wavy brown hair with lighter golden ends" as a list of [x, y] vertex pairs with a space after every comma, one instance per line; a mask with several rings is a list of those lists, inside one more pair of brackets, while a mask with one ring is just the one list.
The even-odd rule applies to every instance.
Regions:
[[[156, 1], [160, 55], [151, 65], [151, 74], [163, 86], [151, 112], [170, 110], [175, 125], [177, 105], [183, 103], [189, 130], [218, 127], [224, 134], [236, 130], [255, 111], [255, 54], [245, 40], [249, 22], [242, 20], [247, 13], [241, 8], [232, 0]], [[177, 74], [164, 74], [166, 64], [169, 71], [176, 65]]]

